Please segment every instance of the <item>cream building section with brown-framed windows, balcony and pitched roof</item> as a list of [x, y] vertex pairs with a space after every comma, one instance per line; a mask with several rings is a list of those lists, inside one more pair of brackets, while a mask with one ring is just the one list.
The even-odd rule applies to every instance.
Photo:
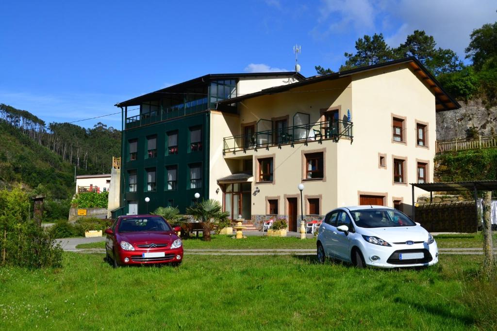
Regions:
[[421, 192], [409, 183], [433, 181], [435, 113], [459, 108], [415, 59], [220, 104], [237, 112], [209, 113], [209, 197], [256, 226], [286, 217], [290, 231], [301, 213], [319, 219], [345, 205], [382, 204], [410, 215]]

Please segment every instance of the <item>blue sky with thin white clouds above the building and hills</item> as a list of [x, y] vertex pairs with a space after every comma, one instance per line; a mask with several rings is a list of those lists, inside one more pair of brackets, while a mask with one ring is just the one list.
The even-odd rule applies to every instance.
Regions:
[[[495, 0], [22, 1], [0, 3], [0, 103], [47, 122], [119, 111], [116, 102], [206, 73], [337, 70], [364, 34], [398, 46], [415, 29], [464, 57]], [[120, 116], [101, 121], [120, 129]]]

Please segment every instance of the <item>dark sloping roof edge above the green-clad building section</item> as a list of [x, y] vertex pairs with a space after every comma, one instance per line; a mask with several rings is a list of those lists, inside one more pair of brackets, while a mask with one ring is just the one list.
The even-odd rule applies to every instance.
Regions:
[[251, 73], [211, 73], [201, 77], [193, 78], [179, 84], [168, 86], [166, 88], [140, 95], [136, 98], [132, 98], [123, 102], [118, 102], [114, 106], [116, 107], [127, 107], [127, 106], [138, 106], [144, 101], [153, 101], [163, 98], [167, 93], [182, 93], [185, 92], [185, 88], [194, 87], [199, 84], [208, 83], [212, 80], [219, 79], [233, 79], [233, 78], [251, 78], [251, 77], [275, 77], [275, 76], [293, 76], [297, 80], [304, 80], [301, 73], [296, 71], [281, 71], [281, 72], [251, 72]]

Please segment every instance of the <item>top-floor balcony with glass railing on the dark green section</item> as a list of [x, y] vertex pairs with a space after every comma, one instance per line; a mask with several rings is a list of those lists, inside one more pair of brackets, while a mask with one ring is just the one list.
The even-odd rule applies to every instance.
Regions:
[[126, 130], [170, 120], [176, 117], [199, 113], [206, 109], [208, 109], [207, 97], [162, 108], [160, 110], [153, 110], [149, 113], [128, 117], [126, 119]]

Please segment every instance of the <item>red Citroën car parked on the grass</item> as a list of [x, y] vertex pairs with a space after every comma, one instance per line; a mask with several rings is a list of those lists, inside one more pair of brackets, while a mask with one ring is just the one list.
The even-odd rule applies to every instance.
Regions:
[[105, 230], [105, 253], [114, 267], [119, 265], [179, 265], [183, 260], [183, 244], [172, 228], [157, 215], [120, 216]]

